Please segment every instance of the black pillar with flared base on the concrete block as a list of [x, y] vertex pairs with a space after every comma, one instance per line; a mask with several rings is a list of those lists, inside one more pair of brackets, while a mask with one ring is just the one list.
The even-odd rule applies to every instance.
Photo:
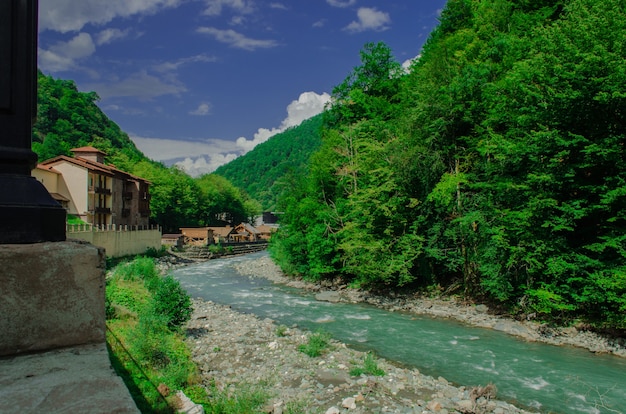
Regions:
[[0, 243], [65, 240], [65, 209], [31, 177], [37, 0], [0, 0]]

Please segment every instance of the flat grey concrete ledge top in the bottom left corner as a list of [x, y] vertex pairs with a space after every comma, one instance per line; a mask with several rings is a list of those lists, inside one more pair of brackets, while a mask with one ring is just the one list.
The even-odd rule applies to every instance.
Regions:
[[139, 413], [106, 344], [0, 359], [3, 413]]

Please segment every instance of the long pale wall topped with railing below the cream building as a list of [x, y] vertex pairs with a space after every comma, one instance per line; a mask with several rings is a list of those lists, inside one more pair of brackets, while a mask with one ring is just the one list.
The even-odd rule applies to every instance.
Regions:
[[161, 229], [158, 226], [69, 224], [67, 237], [103, 247], [109, 257], [142, 254], [149, 248], [161, 248]]

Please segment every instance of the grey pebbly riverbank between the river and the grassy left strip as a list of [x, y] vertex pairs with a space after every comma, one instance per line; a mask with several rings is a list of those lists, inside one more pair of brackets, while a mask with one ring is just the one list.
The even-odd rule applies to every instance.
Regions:
[[[193, 301], [188, 345], [205, 384], [269, 395], [266, 413], [526, 413], [490, 384], [456, 387], [329, 340], [319, 357], [299, 350], [311, 332], [277, 326], [228, 306]], [[381, 370], [358, 375], [366, 360]], [[370, 369], [372, 367], [370, 366]]]

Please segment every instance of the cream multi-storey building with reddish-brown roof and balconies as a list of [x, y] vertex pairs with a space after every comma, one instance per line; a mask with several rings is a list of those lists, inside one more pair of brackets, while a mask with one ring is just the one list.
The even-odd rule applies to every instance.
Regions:
[[32, 171], [68, 214], [93, 225], [147, 226], [150, 182], [104, 163], [94, 147], [71, 150], [43, 161]]

